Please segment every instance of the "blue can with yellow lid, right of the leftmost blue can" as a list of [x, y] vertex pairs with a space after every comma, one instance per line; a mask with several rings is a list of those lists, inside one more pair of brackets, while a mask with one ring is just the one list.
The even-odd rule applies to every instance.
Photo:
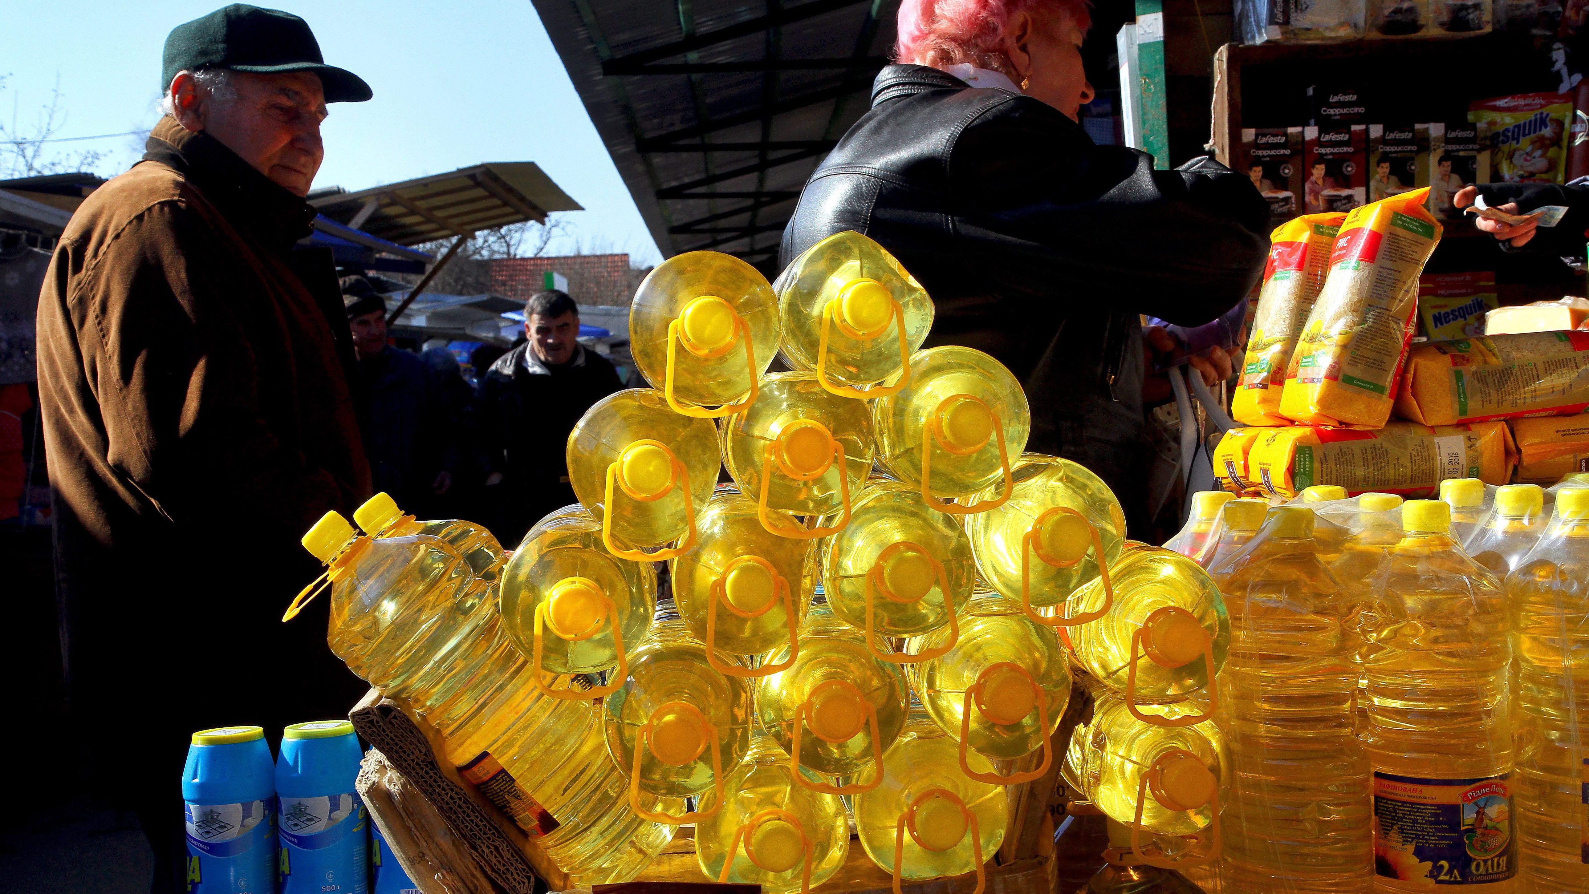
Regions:
[[361, 757], [348, 721], [283, 730], [276, 757], [281, 894], [369, 892], [370, 823], [353, 784]]

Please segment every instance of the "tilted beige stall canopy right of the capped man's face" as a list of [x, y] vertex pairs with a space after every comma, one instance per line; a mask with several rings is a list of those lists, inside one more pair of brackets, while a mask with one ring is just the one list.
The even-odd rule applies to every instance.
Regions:
[[583, 211], [534, 162], [489, 162], [362, 189], [311, 195], [338, 224], [397, 245], [419, 245], [521, 221], [550, 211]]

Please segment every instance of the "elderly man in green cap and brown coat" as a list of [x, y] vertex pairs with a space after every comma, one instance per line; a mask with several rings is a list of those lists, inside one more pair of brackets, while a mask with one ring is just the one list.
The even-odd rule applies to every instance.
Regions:
[[[346, 713], [361, 686], [297, 545], [370, 495], [329, 254], [294, 251], [326, 105], [370, 87], [297, 16], [232, 5], [165, 41], [148, 154], [94, 192], [38, 305], [76, 742], [181, 891], [191, 732]], [[264, 880], [257, 880], [264, 883]], [[270, 889], [269, 886], [264, 889]]]

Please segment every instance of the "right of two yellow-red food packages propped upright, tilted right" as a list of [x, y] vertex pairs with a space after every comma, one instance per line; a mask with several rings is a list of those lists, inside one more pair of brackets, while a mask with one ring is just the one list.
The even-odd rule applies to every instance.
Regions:
[[1390, 418], [1413, 340], [1417, 278], [1441, 227], [1429, 187], [1352, 208], [1330, 272], [1286, 368], [1281, 416], [1311, 426], [1378, 429]]

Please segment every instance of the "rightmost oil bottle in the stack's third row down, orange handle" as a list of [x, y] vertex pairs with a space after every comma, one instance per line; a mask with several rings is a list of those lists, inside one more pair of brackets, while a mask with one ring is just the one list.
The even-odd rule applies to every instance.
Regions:
[[[1104, 564], [1112, 567], [1125, 540], [1125, 511], [1101, 478], [1081, 464], [1041, 453], [1020, 457], [1014, 470], [1015, 491], [1003, 507], [966, 516], [966, 537], [977, 557], [982, 580], [999, 594], [1020, 600], [1022, 562], [1031, 581], [1031, 605], [1058, 605], [1076, 588], [1098, 580], [1098, 556], [1081, 519], [1055, 508], [1074, 510], [1092, 524], [1103, 541]], [[979, 500], [998, 497], [1003, 483], [990, 486]], [[1044, 519], [1038, 524], [1038, 519]], [[1034, 530], [1036, 527], [1036, 530]], [[1026, 535], [1034, 534], [1052, 565]]]

